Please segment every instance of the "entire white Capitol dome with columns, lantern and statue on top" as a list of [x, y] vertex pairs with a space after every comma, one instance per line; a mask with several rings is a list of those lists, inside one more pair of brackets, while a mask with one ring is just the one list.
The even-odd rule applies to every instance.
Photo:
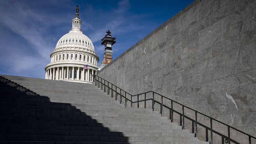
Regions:
[[91, 40], [81, 31], [78, 11], [77, 7], [71, 30], [59, 39], [50, 54], [45, 79], [92, 83], [92, 75], [98, 71], [99, 57]]

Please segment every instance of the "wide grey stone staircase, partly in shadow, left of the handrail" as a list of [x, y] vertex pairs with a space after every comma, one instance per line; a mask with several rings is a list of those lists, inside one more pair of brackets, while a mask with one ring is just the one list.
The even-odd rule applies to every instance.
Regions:
[[0, 144], [209, 144], [92, 84], [0, 75]]

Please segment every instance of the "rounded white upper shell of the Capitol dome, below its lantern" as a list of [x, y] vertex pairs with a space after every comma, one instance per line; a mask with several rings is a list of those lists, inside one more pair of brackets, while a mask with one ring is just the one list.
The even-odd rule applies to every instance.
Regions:
[[70, 45], [89, 48], [94, 51], [94, 46], [91, 40], [80, 30], [70, 30], [69, 33], [62, 36], [57, 42], [55, 49], [60, 47], [69, 47]]

